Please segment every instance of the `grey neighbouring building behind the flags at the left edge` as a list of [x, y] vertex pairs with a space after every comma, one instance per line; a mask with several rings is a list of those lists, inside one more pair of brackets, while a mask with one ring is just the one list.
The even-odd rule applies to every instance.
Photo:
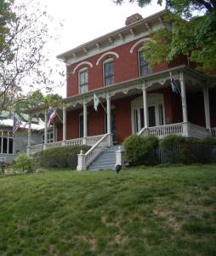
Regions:
[[[13, 137], [14, 116], [8, 111], [3, 111], [0, 114], [0, 157], [6, 157], [10, 162], [14, 159], [14, 155], [26, 151], [28, 142], [28, 115], [25, 113], [19, 114], [22, 124]], [[32, 119], [31, 124], [31, 145], [43, 143], [44, 138], [44, 125], [39, 124], [39, 120]], [[53, 137], [53, 130], [49, 131], [48, 137]], [[54, 142], [54, 140], [48, 142]]]

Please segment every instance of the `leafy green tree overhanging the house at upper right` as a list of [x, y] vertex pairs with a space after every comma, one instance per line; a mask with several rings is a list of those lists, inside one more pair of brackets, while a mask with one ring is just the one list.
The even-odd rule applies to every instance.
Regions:
[[[122, 0], [114, 1], [121, 4]], [[133, 3], [134, 0], [129, 0]], [[144, 7], [152, 0], [137, 0]], [[195, 61], [202, 72], [211, 73], [216, 67], [216, 0], [158, 0], [165, 3], [168, 15], [165, 21], [172, 29], [161, 28], [151, 32], [151, 40], [144, 44], [144, 57], [151, 67], [164, 61], [172, 61], [178, 55], [186, 55]], [[160, 47], [158, 47], [160, 45]]]

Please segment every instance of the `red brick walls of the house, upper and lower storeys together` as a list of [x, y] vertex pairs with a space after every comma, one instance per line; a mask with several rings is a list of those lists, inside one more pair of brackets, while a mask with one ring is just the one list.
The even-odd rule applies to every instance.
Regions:
[[[105, 55], [105, 57], [99, 61], [98, 66], [96, 65], [96, 62], [104, 53], [87, 57], [84, 60], [92, 63], [93, 67], [89, 67], [87, 64], [81, 65], [73, 74], [72, 72], [74, 68], [77, 67], [77, 65], [82, 61], [67, 67], [67, 96], [76, 96], [78, 94], [78, 72], [83, 67], [88, 68], [88, 91], [103, 88], [103, 61], [108, 58], [114, 59], [115, 84], [127, 81], [129, 79], [138, 78], [138, 49], [143, 45], [143, 42], [134, 48], [134, 52], [132, 54], [130, 53], [130, 49], [137, 41], [138, 39], [111, 49], [110, 51], [117, 53], [119, 57], [115, 55]], [[170, 67], [176, 67], [186, 63], [187, 60], [185, 56], [179, 56], [179, 58], [170, 62], [169, 64], [163, 63], [156, 66], [153, 71], [160, 72]], [[193, 63], [190, 64], [194, 65]], [[165, 124], [182, 122], [181, 98], [179, 95], [173, 94], [171, 86], [161, 90], [156, 90], [154, 92], [162, 93], [163, 95]], [[136, 96], [122, 96], [122, 99], [118, 99], [116, 101], [111, 100], [111, 105], [116, 109], [116, 133], [117, 141], [119, 143], [122, 143], [125, 137], [128, 137], [132, 134], [131, 102], [138, 96], [141, 96], [140, 91]], [[197, 93], [187, 92], [186, 96], [189, 121], [196, 125], [205, 126], [205, 112], [202, 91]], [[210, 93], [211, 125], [213, 127], [216, 127], [215, 99], [216, 90], [213, 89]], [[67, 111], [66, 139], [79, 137], [79, 115], [81, 113], [82, 108], [78, 110]], [[95, 112], [93, 106], [88, 107], [88, 136], [95, 136], [103, 133], [105, 133], [104, 109], [99, 107], [98, 112]], [[62, 140], [62, 125], [58, 126], [57, 138], [58, 141]]]

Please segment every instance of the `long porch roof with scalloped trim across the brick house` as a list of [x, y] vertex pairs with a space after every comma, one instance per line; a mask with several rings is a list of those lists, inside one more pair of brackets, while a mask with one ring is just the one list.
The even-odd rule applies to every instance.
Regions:
[[[90, 102], [93, 100], [94, 93], [97, 94], [98, 97], [105, 97], [107, 93], [118, 93], [124, 92], [127, 94], [128, 90], [141, 87], [142, 84], [145, 84], [148, 87], [148, 90], [154, 90], [152, 87], [153, 84], [165, 84], [166, 81], [170, 79], [169, 73], [173, 74], [174, 79], [179, 79], [179, 72], [184, 72], [187, 78], [193, 79], [196, 81], [196, 84], [202, 84], [202, 87], [213, 87], [216, 84], [216, 76], [209, 76], [203, 74], [195, 69], [187, 67], [185, 65], [181, 65], [179, 67], [173, 67], [166, 69], [161, 72], [152, 73], [146, 75], [145, 77], [139, 77], [136, 79], [129, 79], [127, 81], [123, 81], [117, 84], [112, 84], [106, 87], [101, 87], [95, 90], [90, 90], [88, 92], [78, 94], [76, 96], [69, 96], [60, 101], [56, 102], [58, 108], [63, 107], [64, 105], [70, 105], [75, 107], [78, 103], [82, 102], [84, 99]], [[41, 113], [48, 109], [48, 105], [40, 105], [36, 108], [29, 108], [23, 111], [24, 113], [34, 114]]]

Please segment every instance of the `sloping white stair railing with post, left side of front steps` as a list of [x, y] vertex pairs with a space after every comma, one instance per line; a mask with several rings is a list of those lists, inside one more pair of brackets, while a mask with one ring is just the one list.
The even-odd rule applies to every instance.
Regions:
[[77, 171], [87, 170], [88, 166], [99, 156], [99, 154], [105, 149], [110, 147], [112, 144], [111, 134], [105, 134], [100, 140], [94, 144], [92, 148], [88, 150], [86, 154], [82, 153], [77, 154], [78, 156], [78, 165]]

